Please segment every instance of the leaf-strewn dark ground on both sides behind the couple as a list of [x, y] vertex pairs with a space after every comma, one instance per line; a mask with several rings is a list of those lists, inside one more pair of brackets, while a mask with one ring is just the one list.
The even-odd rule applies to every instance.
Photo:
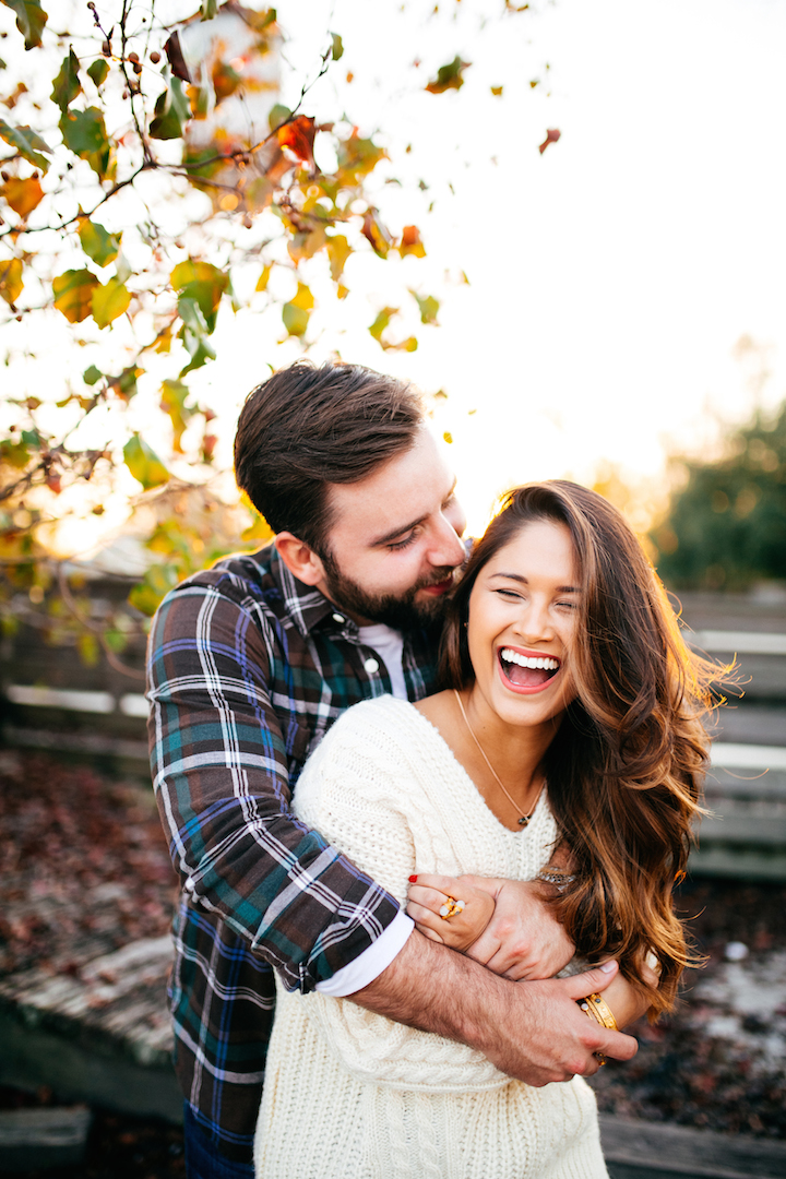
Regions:
[[[111, 953], [169, 929], [174, 876], [152, 791], [140, 782], [52, 756], [1, 753], [0, 863], [0, 976], [33, 966], [73, 971], [82, 941]], [[600, 1108], [786, 1138], [786, 889], [687, 882], [679, 903], [708, 963], [689, 971], [673, 1015], [654, 1028], [636, 1026], [634, 1061], [609, 1061], [599, 1072]], [[0, 1089], [0, 1108], [57, 1100], [47, 1089]], [[51, 1179], [184, 1173], [177, 1127], [101, 1109], [85, 1162], [46, 1172]]]

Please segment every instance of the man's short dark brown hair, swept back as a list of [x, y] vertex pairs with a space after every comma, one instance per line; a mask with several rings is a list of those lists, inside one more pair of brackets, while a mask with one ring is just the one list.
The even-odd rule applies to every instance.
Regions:
[[296, 361], [253, 389], [235, 437], [235, 476], [273, 532], [326, 552], [330, 483], [356, 483], [408, 450], [420, 394], [362, 364]]

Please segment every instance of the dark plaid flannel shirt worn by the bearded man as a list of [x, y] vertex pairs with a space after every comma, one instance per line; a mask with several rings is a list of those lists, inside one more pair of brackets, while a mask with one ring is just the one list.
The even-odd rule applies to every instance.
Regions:
[[[435, 690], [437, 638], [404, 635], [411, 700]], [[398, 909], [290, 811], [303, 763], [330, 725], [390, 691], [374, 654], [272, 547], [184, 581], [151, 631], [151, 769], [183, 882], [170, 983], [174, 1065], [198, 1122], [237, 1161], [251, 1158], [272, 968], [291, 989], [311, 990], [368, 949]]]

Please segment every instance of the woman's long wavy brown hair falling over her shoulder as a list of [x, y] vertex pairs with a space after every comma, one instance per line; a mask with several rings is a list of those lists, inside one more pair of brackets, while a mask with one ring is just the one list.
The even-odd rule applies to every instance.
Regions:
[[[708, 760], [701, 718], [728, 668], [693, 654], [666, 592], [625, 518], [577, 483], [516, 488], [476, 545], [449, 607], [441, 673], [474, 679], [463, 623], [483, 566], [527, 523], [570, 532], [581, 595], [570, 668], [576, 699], [546, 755], [551, 810], [574, 881], [553, 898], [577, 951], [613, 955], [652, 1001], [673, 1007], [692, 961], [672, 891], [686, 870]], [[653, 987], [642, 970], [660, 969]]]

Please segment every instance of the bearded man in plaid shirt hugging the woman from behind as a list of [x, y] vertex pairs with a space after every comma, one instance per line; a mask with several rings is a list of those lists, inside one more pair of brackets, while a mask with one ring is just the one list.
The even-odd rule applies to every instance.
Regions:
[[[536, 887], [506, 884], [471, 956], [455, 954], [289, 809], [344, 709], [436, 686], [464, 520], [416, 394], [357, 365], [298, 362], [250, 395], [235, 459], [275, 541], [173, 591], [148, 653], [153, 780], [183, 881], [171, 999], [190, 1179], [252, 1174], [271, 968], [534, 1085], [594, 1072], [594, 1053], [635, 1053], [575, 1003], [613, 971], [548, 977], [573, 947]], [[517, 976], [547, 981], [480, 964], [516, 959]]]

